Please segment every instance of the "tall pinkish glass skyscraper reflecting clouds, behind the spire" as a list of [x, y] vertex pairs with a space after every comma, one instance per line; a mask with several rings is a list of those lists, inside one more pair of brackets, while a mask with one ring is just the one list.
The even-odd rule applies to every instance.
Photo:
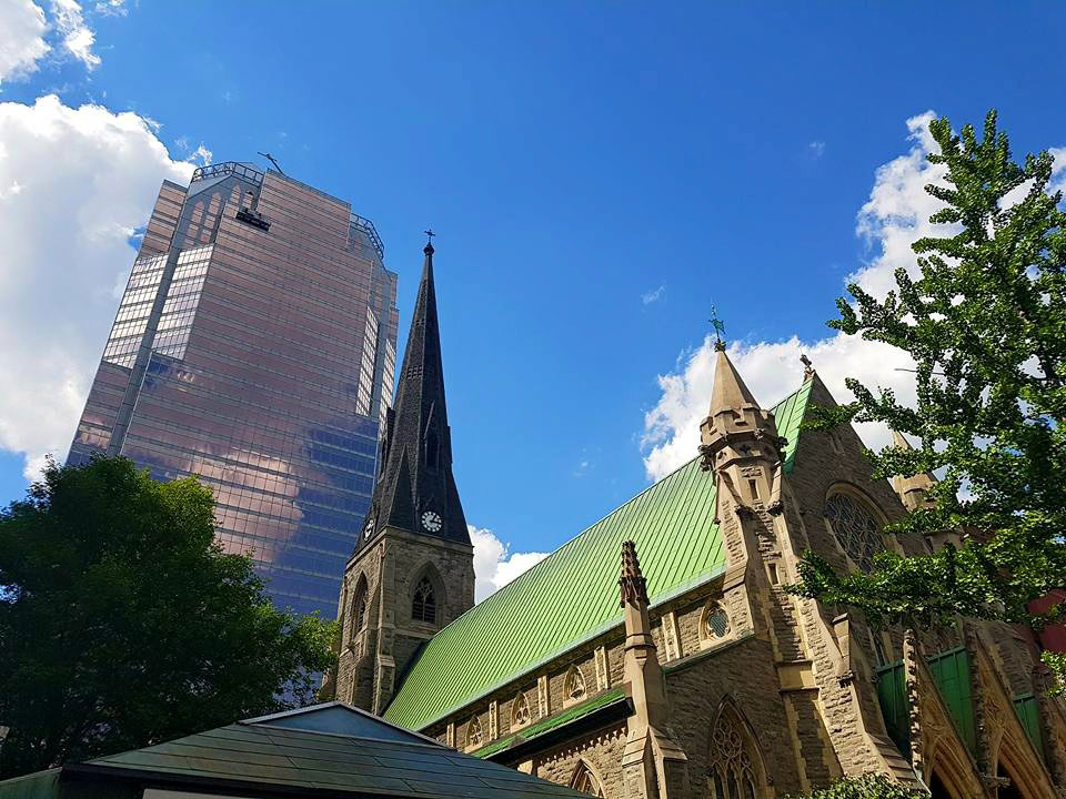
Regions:
[[396, 275], [373, 224], [253, 164], [165, 181], [68, 463], [214, 490], [276, 605], [336, 611], [392, 401]]

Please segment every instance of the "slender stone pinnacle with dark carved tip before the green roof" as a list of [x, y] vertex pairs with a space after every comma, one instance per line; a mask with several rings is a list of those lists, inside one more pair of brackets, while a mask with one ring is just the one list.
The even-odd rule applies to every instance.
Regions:
[[630, 799], [687, 799], [688, 758], [667, 727], [670, 700], [647, 617], [647, 587], [633, 542], [622, 545], [623, 679], [633, 701], [622, 778]]

